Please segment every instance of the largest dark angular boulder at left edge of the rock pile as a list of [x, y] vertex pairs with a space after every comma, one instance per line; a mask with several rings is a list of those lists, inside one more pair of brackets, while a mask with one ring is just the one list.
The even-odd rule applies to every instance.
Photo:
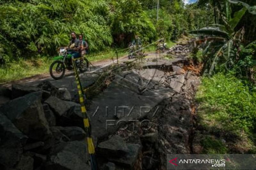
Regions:
[[31, 139], [44, 141], [52, 137], [41, 104], [42, 92], [32, 92], [11, 100], [0, 110], [12, 123]]

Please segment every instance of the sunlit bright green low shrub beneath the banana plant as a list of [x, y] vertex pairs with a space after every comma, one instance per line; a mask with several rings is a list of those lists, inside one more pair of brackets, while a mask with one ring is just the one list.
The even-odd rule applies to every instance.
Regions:
[[252, 133], [256, 128], [255, 97], [235, 76], [218, 73], [202, 79], [196, 100], [206, 126]]

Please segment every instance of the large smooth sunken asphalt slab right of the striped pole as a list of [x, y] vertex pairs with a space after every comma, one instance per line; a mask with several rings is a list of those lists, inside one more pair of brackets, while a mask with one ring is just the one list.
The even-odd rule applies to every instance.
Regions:
[[[158, 73], [160, 77], [164, 74], [162, 71]], [[88, 113], [94, 137], [107, 136], [114, 132], [121, 122], [137, 121], [159, 102], [175, 93], [172, 89], [164, 87], [146, 89], [140, 93], [136, 83], [141, 78], [140, 75], [136, 72], [126, 72], [123, 76], [115, 78], [105, 91], [92, 100]]]

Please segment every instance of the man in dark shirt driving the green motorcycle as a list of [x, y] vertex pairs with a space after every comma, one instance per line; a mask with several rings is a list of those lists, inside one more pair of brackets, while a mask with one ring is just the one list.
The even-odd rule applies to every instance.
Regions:
[[81, 46], [79, 46], [79, 40], [76, 38], [76, 33], [71, 33], [71, 41], [69, 42], [68, 48], [69, 51], [71, 51], [72, 58], [79, 58], [80, 57], [80, 49]]

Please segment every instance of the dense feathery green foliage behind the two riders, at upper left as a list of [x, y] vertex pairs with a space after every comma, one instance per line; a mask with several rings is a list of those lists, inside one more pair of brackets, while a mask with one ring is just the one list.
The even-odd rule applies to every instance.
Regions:
[[112, 43], [103, 0], [10, 1], [0, 5], [0, 11], [1, 42], [5, 48], [12, 44], [9, 56], [18, 57], [18, 51], [22, 56], [55, 54], [57, 47], [68, 44], [71, 31], [83, 33], [92, 51]]

